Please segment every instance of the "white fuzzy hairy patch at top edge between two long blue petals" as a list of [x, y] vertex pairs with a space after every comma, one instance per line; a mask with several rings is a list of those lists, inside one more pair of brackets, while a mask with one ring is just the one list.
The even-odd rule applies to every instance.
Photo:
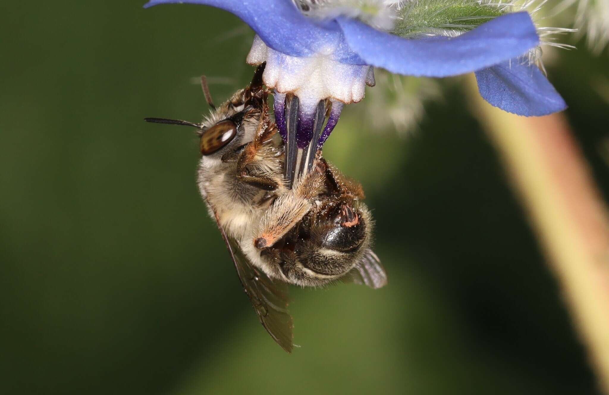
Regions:
[[330, 20], [339, 15], [349, 16], [379, 30], [392, 30], [398, 9], [404, 1], [398, 0], [293, 0], [306, 16]]

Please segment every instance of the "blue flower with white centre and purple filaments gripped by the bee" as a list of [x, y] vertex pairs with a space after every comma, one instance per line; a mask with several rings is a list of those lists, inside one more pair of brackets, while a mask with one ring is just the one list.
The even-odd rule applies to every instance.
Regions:
[[[180, 2], [227, 10], [252, 27], [256, 38], [247, 61], [267, 63], [264, 82], [275, 88], [275, 114], [284, 137], [285, 93], [300, 100], [299, 148], [311, 139], [323, 144], [342, 104], [361, 100], [365, 85], [374, 85], [372, 66], [426, 77], [475, 72], [482, 97], [518, 115], [566, 108], [537, 66], [522, 60], [540, 43], [527, 12], [497, 16], [457, 37], [404, 38], [345, 13], [323, 19], [305, 16], [292, 0], [152, 0], [144, 7]], [[331, 99], [333, 108], [325, 129], [316, 131], [314, 114], [321, 113], [324, 99]]]

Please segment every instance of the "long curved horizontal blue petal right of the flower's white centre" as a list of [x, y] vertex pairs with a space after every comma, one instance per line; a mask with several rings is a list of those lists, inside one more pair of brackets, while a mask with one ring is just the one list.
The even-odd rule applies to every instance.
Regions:
[[410, 76], [470, 73], [523, 55], [539, 37], [527, 12], [498, 16], [458, 37], [403, 38], [340, 16], [345, 40], [368, 64]]

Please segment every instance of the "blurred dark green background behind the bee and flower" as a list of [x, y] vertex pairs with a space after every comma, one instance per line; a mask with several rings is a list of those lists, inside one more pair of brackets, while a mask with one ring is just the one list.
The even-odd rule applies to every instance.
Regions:
[[[256, 320], [195, 187], [189, 130], [245, 85], [252, 33], [195, 5], [0, 8], [1, 394], [594, 394], [585, 351], [458, 80], [420, 131], [325, 156], [361, 180], [389, 285], [292, 290], [288, 355]], [[547, 65], [609, 196], [609, 57]], [[380, 89], [379, 87], [375, 89]], [[605, 96], [605, 98], [604, 98]], [[350, 120], [351, 119], [351, 120]]]

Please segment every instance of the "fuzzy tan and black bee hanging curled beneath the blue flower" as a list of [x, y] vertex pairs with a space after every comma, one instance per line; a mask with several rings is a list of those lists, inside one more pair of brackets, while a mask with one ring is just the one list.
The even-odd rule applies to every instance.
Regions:
[[263, 71], [264, 64], [248, 87], [218, 107], [202, 77], [211, 112], [200, 124], [145, 120], [197, 128], [201, 196], [262, 326], [291, 352], [288, 284], [380, 288], [387, 276], [371, 250], [373, 220], [359, 183], [329, 165], [320, 150], [310, 166], [292, 174], [294, 182], [286, 180], [287, 144], [269, 114]]

